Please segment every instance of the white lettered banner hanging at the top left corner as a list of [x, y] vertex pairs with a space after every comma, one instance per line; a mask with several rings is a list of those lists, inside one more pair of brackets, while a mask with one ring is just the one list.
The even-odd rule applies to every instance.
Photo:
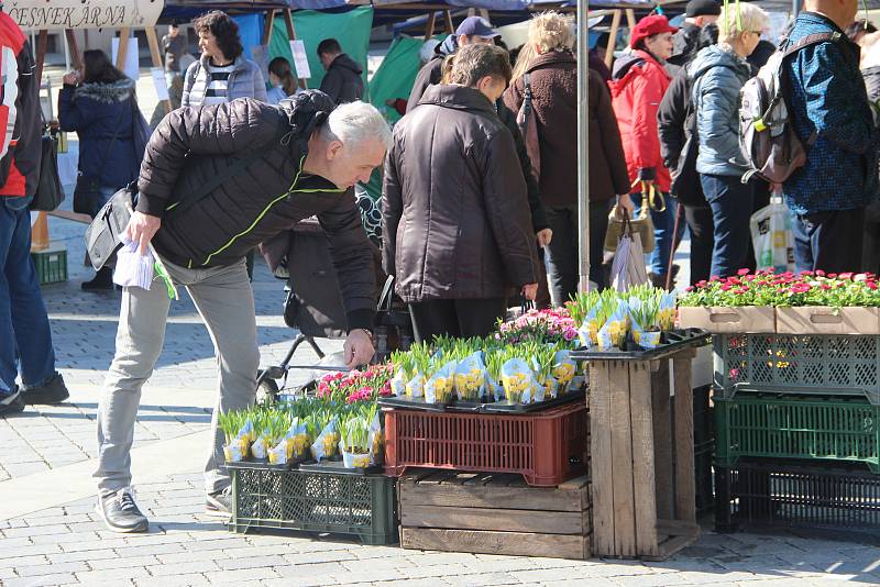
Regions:
[[163, 0], [4, 0], [3, 10], [32, 31], [154, 26]]

